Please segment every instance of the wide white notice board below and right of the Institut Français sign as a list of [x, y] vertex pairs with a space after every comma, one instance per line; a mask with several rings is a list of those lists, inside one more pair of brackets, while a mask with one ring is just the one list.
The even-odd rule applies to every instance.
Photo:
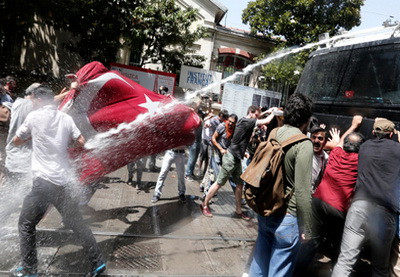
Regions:
[[251, 105], [258, 107], [279, 107], [282, 93], [242, 85], [226, 83], [222, 95], [222, 109], [235, 113], [239, 118], [247, 115]]

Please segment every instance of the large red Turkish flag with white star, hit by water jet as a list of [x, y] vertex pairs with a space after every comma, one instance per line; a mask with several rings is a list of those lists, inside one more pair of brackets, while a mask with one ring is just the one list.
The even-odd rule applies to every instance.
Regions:
[[190, 107], [152, 92], [99, 62], [83, 66], [59, 109], [87, 142], [72, 156], [85, 184], [139, 158], [190, 145], [200, 118]]

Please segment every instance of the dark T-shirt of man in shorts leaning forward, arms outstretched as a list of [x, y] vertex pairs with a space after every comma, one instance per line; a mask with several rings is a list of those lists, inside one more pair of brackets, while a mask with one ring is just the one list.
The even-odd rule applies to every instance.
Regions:
[[257, 119], [243, 117], [236, 124], [235, 132], [233, 133], [231, 145], [228, 151], [236, 158], [242, 159], [246, 152], [247, 144], [250, 141], [253, 129], [256, 126]]

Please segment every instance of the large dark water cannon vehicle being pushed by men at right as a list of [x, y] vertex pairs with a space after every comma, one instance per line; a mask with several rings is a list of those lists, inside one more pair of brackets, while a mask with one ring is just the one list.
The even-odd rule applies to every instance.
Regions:
[[313, 100], [314, 114], [343, 132], [353, 115], [370, 135], [376, 117], [400, 124], [400, 25], [328, 40], [309, 56], [296, 92]]

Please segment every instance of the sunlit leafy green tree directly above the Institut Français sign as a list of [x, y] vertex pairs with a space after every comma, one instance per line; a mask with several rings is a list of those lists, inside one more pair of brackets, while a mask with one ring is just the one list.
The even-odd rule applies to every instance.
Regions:
[[206, 36], [204, 27], [192, 30], [197, 20], [197, 10], [179, 8], [174, 0], [153, 0], [151, 5], [133, 11], [135, 22], [132, 39], [127, 38], [131, 49], [143, 51], [141, 65], [161, 62], [163, 69], [177, 72], [182, 64], [199, 66], [203, 56], [193, 55], [190, 47]]

